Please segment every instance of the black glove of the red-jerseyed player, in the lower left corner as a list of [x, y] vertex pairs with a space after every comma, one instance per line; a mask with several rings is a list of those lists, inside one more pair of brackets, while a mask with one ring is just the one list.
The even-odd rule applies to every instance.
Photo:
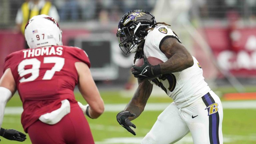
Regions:
[[23, 142], [24, 140], [27, 139], [25, 134], [15, 130], [15, 129], [1, 128], [0, 135], [8, 140], [15, 140], [15, 141], [20, 141], [20, 142]]

